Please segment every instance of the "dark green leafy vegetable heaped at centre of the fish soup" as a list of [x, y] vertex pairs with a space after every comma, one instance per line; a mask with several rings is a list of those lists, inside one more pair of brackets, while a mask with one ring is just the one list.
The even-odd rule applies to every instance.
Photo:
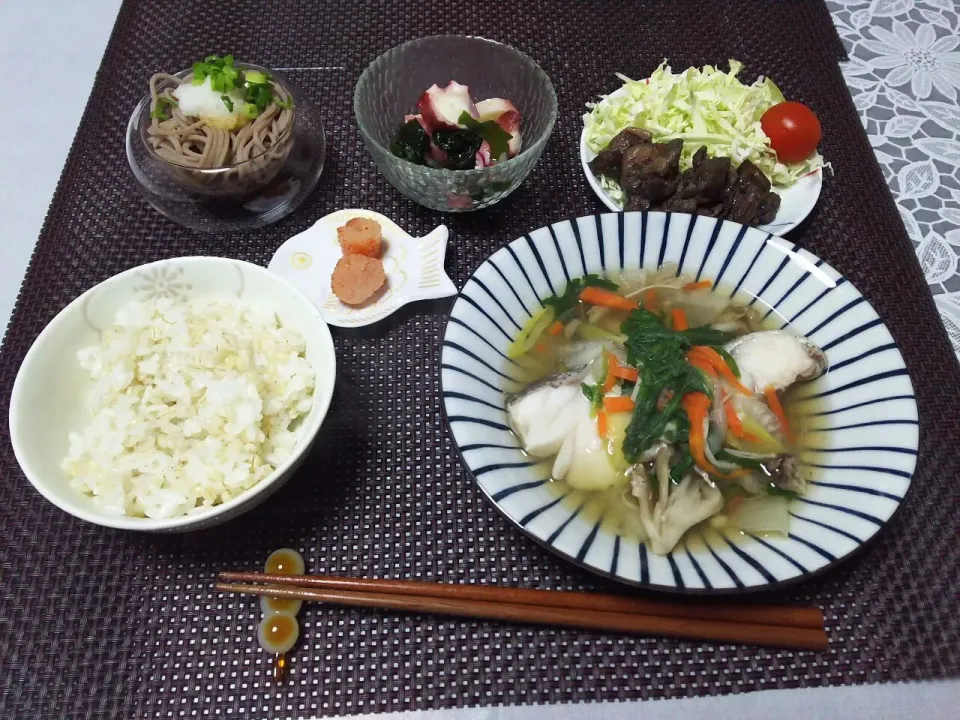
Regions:
[[643, 376], [623, 441], [624, 457], [636, 462], [670, 423], [675, 424], [678, 444], [686, 447], [689, 427], [681, 399], [691, 392], [713, 395], [700, 371], [687, 363], [686, 352], [694, 345], [721, 345], [732, 335], [708, 326], [675, 332], [643, 308], [631, 312], [620, 331], [627, 336], [627, 363]]

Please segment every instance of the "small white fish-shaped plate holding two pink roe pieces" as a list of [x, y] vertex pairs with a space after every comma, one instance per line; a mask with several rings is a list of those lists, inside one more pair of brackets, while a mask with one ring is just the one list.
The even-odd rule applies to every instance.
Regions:
[[[383, 269], [387, 282], [363, 305], [347, 305], [333, 294], [330, 277], [343, 257], [337, 228], [362, 217], [383, 232]], [[422, 238], [408, 235], [393, 220], [371, 210], [338, 210], [294, 235], [274, 253], [267, 269], [302, 290], [323, 319], [339, 327], [362, 327], [382, 320], [407, 303], [457, 294], [443, 269], [449, 231], [441, 225]]]

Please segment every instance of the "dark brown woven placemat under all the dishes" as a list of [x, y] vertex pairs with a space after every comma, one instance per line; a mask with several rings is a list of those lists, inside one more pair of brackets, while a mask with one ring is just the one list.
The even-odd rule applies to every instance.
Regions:
[[[438, 32], [517, 46], [552, 77], [554, 136], [513, 196], [441, 217], [378, 175], [352, 119], [352, 90], [388, 47]], [[322, 108], [330, 155], [299, 212], [266, 230], [212, 236], [162, 218], [138, 195], [124, 128], [149, 75], [209, 52], [277, 68]], [[519, 234], [600, 209], [576, 155], [583, 103], [663, 58], [735, 57], [810, 103], [836, 175], [793, 238], [850, 278], [900, 344], [920, 403], [921, 454], [902, 511], [870, 547], [776, 599], [826, 610], [823, 653], [719, 646], [318, 606], [302, 614], [289, 681], [268, 679], [259, 607], [211, 591], [217, 570], [255, 569], [299, 547], [317, 572], [612, 589], [508, 526], [462, 471], [440, 414], [442, 311], [372, 334], [336, 333], [334, 407], [299, 474], [226, 526], [187, 536], [114, 532], [74, 520], [28, 485], [8, 436], [0, 483], [0, 717], [339, 715], [499, 703], [705, 695], [934, 678], [960, 666], [955, 442], [960, 372], [914, 253], [872, 159], [821, 2], [503, 5], [469, 0], [128, 0], [0, 355], [4, 417], [20, 362], [64, 305], [134, 265], [190, 254], [266, 264], [287, 237], [341, 207], [367, 207], [414, 235], [452, 231], [462, 284]], [[69, 359], [65, 361], [69, 362]]]

